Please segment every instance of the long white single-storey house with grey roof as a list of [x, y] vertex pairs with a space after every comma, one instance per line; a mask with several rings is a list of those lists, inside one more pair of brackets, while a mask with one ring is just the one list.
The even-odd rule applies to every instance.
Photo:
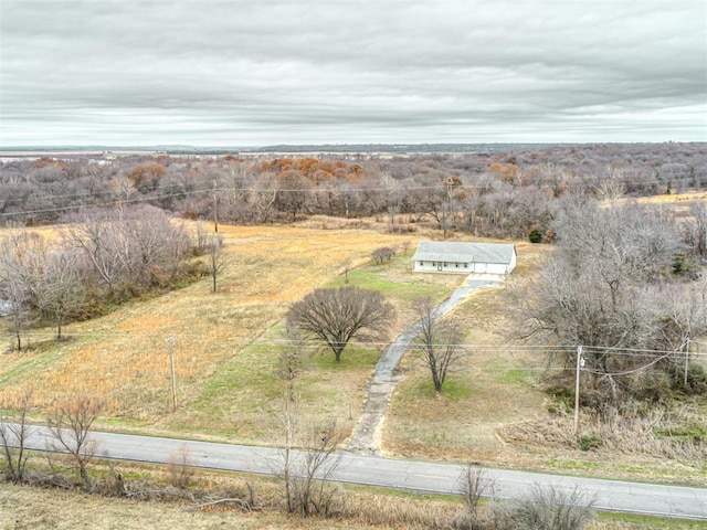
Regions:
[[508, 274], [516, 267], [516, 245], [422, 241], [412, 256], [416, 273]]

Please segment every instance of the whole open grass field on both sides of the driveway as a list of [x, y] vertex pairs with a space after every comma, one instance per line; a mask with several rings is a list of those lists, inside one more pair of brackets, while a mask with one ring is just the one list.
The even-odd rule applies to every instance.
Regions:
[[[281, 322], [289, 304], [319, 286], [374, 287], [395, 305], [391, 337], [414, 316], [411, 301], [442, 299], [463, 276], [413, 275], [410, 254], [370, 264], [379, 246], [423, 235], [390, 235], [371, 227], [221, 226], [231, 263], [210, 293], [210, 279], [159, 298], [134, 301], [91, 322], [67, 326], [56, 343], [51, 330], [33, 333], [29, 352], [3, 356], [0, 398], [33, 388], [34, 415], [78, 391], [108, 401], [101, 427], [183, 435], [246, 444], [275, 442], [277, 402], [285, 383], [277, 377], [283, 348]], [[314, 227], [313, 227], [314, 226]], [[517, 243], [513, 282], [531, 282], [550, 251]], [[550, 414], [539, 383], [542, 357], [511, 344], [507, 287], [472, 295], [452, 311], [467, 329], [471, 357], [450, 374], [441, 396], [424, 367], [407, 354], [402, 382], [383, 425], [389, 455], [478, 462], [514, 468], [705, 485], [707, 464], [641, 451], [580, 451], [571, 415]], [[168, 344], [175, 337], [178, 407], [171, 411]], [[326, 352], [305, 359], [296, 381], [308, 415], [336, 417], [350, 434], [365, 400], [363, 388], [380, 344], [354, 343], [341, 363]], [[697, 403], [697, 411], [707, 405]], [[588, 418], [582, 418], [582, 422]], [[582, 423], [584, 424], [584, 423]], [[588, 424], [589, 425], [589, 424]], [[547, 436], [559, 443], [548, 443]]]

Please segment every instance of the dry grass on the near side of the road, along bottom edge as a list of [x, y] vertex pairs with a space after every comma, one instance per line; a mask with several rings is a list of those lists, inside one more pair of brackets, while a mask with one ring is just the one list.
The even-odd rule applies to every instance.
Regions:
[[[31, 486], [3, 485], [0, 489], [0, 529], [75, 530], [122, 529], [162, 530], [403, 530], [430, 528], [435, 516], [461, 510], [458, 502], [431, 500], [401, 495], [354, 494], [358, 518], [302, 519], [279, 511], [241, 512], [232, 509], [193, 509], [189, 502], [158, 502], [106, 498], [77, 491], [39, 489]], [[398, 520], [400, 522], [386, 522]], [[442, 519], [440, 519], [442, 520]], [[363, 522], [370, 521], [370, 522]], [[404, 522], [403, 522], [404, 521]], [[428, 521], [425, 523], [425, 521]], [[599, 515], [584, 530], [697, 530], [697, 521], [652, 519], [636, 516]]]

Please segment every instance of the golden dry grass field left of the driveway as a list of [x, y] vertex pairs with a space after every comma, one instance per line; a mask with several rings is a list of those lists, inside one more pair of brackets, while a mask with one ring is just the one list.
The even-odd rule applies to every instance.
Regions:
[[[312, 227], [314, 226], [314, 227]], [[52, 236], [50, 229], [43, 235]], [[336, 283], [345, 268], [370, 261], [372, 250], [402, 245], [412, 236], [331, 226], [314, 220], [304, 226], [220, 226], [230, 263], [219, 278], [193, 284], [154, 299], [134, 301], [112, 314], [65, 328], [56, 342], [52, 330], [34, 330], [29, 351], [3, 356], [0, 399], [33, 389], [35, 414], [76, 392], [103, 396], [102, 423], [118, 428], [182, 432], [240, 442], [272, 441], [268, 418], [277, 410], [284, 384], [276, 377], [282, 336], [277, 322], [289, 305], [312, 289]], [[405, 274], [409, 256], [391, 269]], [[383, 268], [383, 266], [379, 267]], [[357, 274], [350, 274], [351, 285]], [[444, 296], [460, 278], [416, 278], [410, 289]], [[391, 278], [390, 284], [397, 278]], [[418, 287], [413, 287], [413, 285]], [[450, 284], [450, 285], [444, 285]], [[399, 304], [401, 329], [411, 317]], [[173, 337], [178, 409], [171, 411], [169, 346]], [[361, 409], [361, 389], [380, 348], [352, 344], [342, 362], [326, 354], [308, 358], [297, 391], [313, 415], [335, 416], [350, 430]]]

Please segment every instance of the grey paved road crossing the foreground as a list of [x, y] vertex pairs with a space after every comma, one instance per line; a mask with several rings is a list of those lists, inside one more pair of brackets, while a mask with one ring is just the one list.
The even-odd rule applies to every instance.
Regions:
[[[28, 445], [45, 451], [49, 430], [34, 427]], [[114, 433], [92, 433], [99, 453], [108, 458], [166, 463], [188, 452], [196, 467], [265, 475], [277, 474], [279, 453], [268, 447], [192, 442]], [[333, 479], [422, 492], [454, 494], [461, 467], [452, 464], [395, 460], [341, 454]], [[518, 498], [535, 486], [552, 486], [567, 492], [579, 488], [602, 510], [707, 520], [707, 489], [640, 483], [564, 477], [537, 473], [485, 469], [500, 498]]]

